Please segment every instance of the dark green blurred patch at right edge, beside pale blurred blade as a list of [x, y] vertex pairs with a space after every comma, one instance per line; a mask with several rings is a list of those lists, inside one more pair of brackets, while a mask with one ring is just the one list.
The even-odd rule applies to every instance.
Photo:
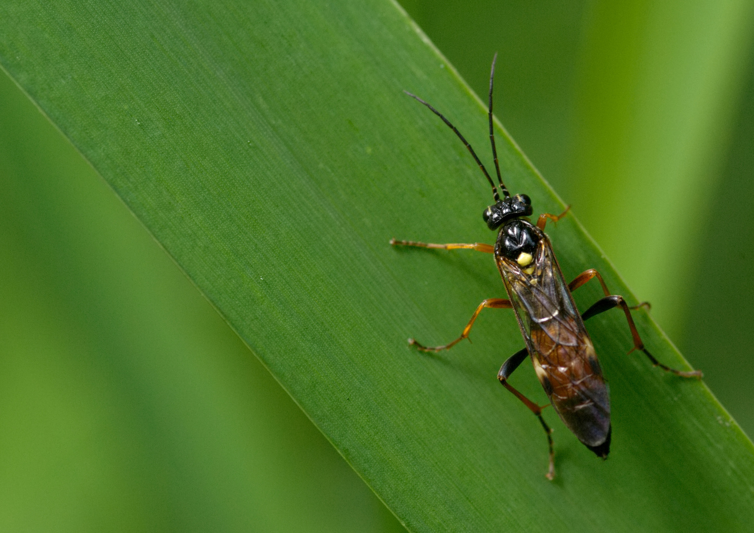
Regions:
[[[754, 434], [752, 314], [754, 300], [754, 62], [732, 130], [722, 179], [713, 188], [710, 219], [698, 238], [691, 300], [679, 345], [706, 372], [716, 397], [747, 434]], [[725, 230], [721, 231], [721, 228]], [[710, 247], [715, 253], [709, 253]], [[718, 256], [716, 259], [715, 256]], [[717, 275], [719, 258], [735, 265], [734, 276]], [[689, 291], [691, 292], [691, 291]]]

